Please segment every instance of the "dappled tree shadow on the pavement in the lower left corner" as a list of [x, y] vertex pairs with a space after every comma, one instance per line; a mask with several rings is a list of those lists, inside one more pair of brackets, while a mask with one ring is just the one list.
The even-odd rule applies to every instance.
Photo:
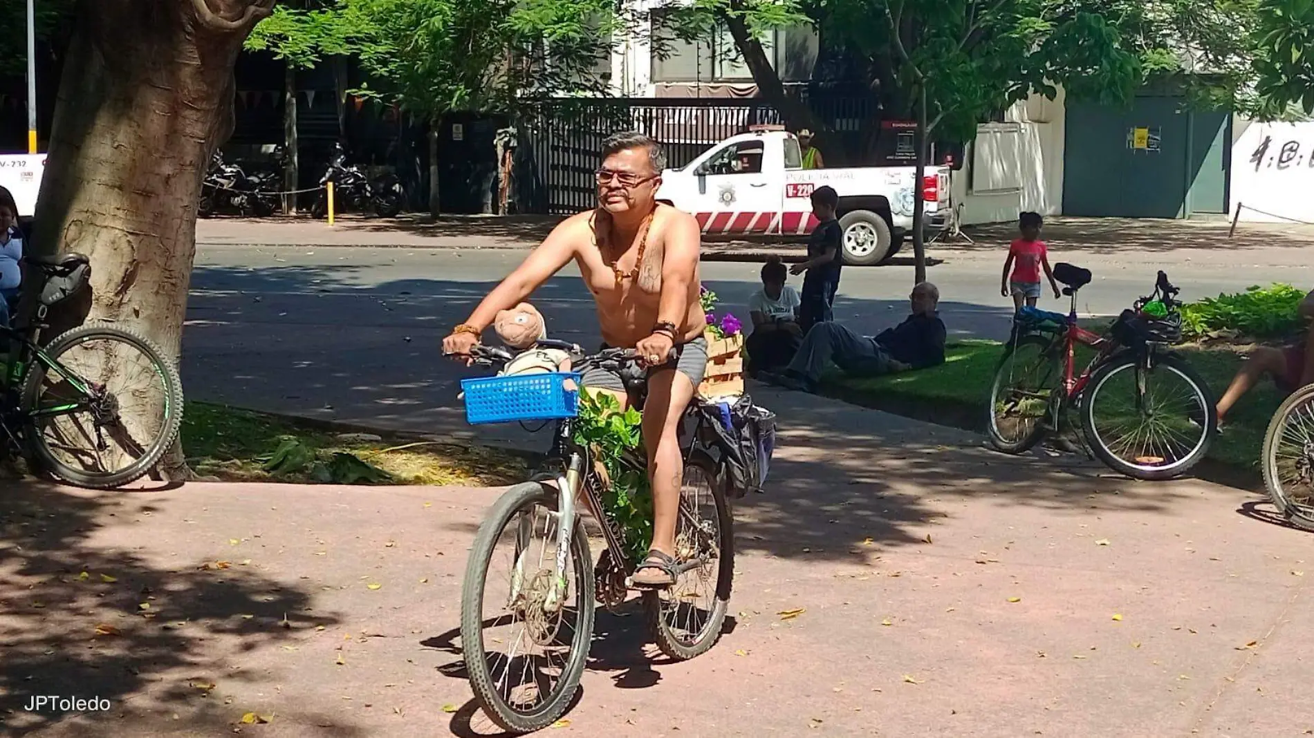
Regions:
[[[215, 683], [259, 676], [229, 661], [285, 641], [298, 629], [336, 622], [309, 616], [310, 596], [252, 569], [212, 562], [162, 566], [101, 541], [110, 528], [148, 517], [150, 494], [74, 491], [8, 483], [0, 496], [0, 709], [7, 735], [221, 734], [240, 717], [212, 695]], [[122, 534], [122, 531], [120, 531]], [[286, 625], [280, 626], [285, 621]], [[215, 650], [230, 642], [237, 654]], [[34, 695], [97, 697], [109, 712], [85, 716], [24, 709]], [[109, 717], [118, 718], [106, 725]], [[281, 720], [325, 724], [301, 713]], [[322, 735], [353, 737], [338, 726]]]

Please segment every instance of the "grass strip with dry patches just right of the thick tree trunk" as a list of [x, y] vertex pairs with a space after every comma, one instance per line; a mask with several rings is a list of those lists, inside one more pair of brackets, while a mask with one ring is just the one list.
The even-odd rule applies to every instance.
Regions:
[[[398, 439], [376, 433], [381, 440], [350, 440], [294, 419], [264, 415], [221, 404], [188, 402], [183, 415], [183, 450], [192, 470], [201, 477], [234, 482], [325, 482], [323, 469], [335, 462], [361, 469], [352, 454], [382, 471], [382, 485], [498, 486], [524, 479], [523, 458], [481, 446]], [[294, 440], [294, 444], [288, 441]], [[301, 464], [285, 462], [284, 470], [267, 465], [275, 452], [296, 446]], [[318, 461], [318, 470], [315, 469]]]

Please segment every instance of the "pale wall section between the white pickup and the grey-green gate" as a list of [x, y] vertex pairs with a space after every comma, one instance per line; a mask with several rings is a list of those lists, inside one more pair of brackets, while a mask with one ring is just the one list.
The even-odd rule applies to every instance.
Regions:
[[963, 225], [1004, 223], [1022, 210], [1056, 215], [1063, 207], [1063, 91], [1033, 96], [983, 123], [954, 172], [953, 202]]

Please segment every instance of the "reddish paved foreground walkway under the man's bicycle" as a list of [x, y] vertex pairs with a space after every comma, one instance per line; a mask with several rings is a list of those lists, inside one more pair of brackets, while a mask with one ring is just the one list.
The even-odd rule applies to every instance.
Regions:
[[[1267, 506], [754, 395], [783, 427], [770, 492], [736, 508], [729, 633], [673, 664], [645, 645], [637, 611], [599, 612], [579, 703], [552, 735], [1314, 729], [1300, 626], [1314, 617], [1309, 537]], [[459, 640], [465, 550], [493, 490], [7, 492], [0, 709], [16, 712], [0, 716], [12, 734], [497, 733], [473, 709]], [[97, 625], [112, 629], [97, 637]], [[112, 709], [21, 712], [33, 693]], [[237, 725], [247, 712], [273, 717]]]

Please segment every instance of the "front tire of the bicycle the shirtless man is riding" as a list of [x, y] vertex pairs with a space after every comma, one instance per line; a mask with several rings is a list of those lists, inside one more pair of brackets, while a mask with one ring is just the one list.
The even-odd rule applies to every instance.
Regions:
[[527, 506], [541, 504], [556, 507], [557, 491], [539, 482], [526, 482], [511, 487], [498, 498], [489, 515], [480, 524], [470, 546], [470, 558], [465, 566], [465, 580], [461, 584], [461, 651], [465, 668], [469, 671], [470, 688], [485, 714], [503, 730], [531, 733], [541, 730], [553, 722], [574, 699], [579, 689], [579, 678], [589, 659], [589, 646], [593, 642], [593, 619], [597, 603], [594, 600], [593, 557], [589, 554], [589, 538], [583, 521], [577, 516], [570, 534], [572, 558], [574, 559], [574, 600], [578, 617], [570, 655], [561, 670], [561, 682], [543, 705], [532, 712], [520, 712], [506, 703], [493, 682], [487, 651], [484, 647], [484, 588], [489, 563], [497, 548], [502, 531]]

